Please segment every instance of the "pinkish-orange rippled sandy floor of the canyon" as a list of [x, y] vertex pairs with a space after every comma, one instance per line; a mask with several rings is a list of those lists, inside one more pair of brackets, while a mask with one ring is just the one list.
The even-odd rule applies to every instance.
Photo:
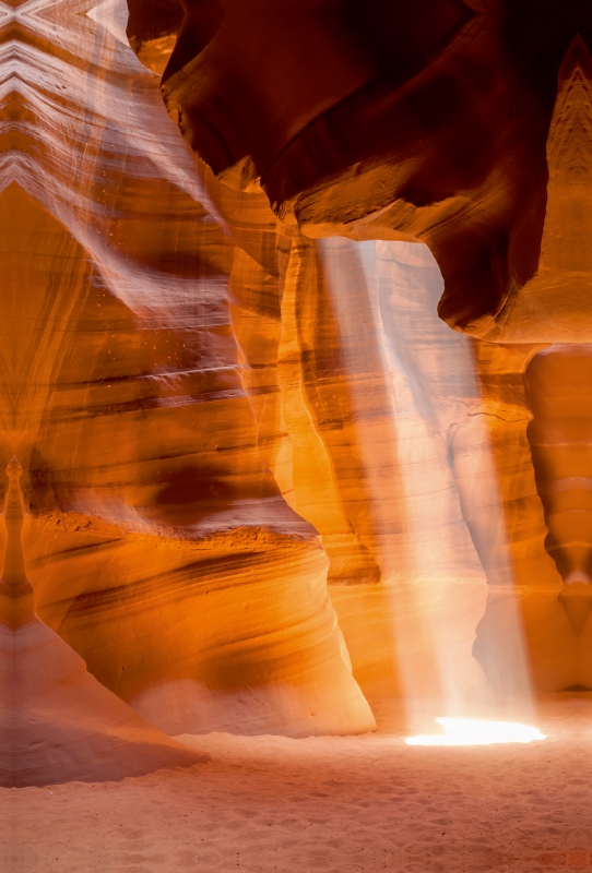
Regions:
[[[375, 734], [186, 737], [211, 763], [122, 782], [2, 789], [0, 869], [590, 870], [591, 698], [540, 704], [534, 718], [547, 739], [528, 745], [409, 746], [392, 702], [377, 707]], [[422, 732], [438, 732], [429, 721], [426, 709]]]

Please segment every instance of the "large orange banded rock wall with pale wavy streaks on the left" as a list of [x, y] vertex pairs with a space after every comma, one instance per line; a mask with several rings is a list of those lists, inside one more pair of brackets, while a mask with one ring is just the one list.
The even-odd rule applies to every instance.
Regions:
[[1, 12], [0, 445], [39, 615], [169, 733], [372, 729], [282, 495], [275, 223], [226, 218], [126, 21]]

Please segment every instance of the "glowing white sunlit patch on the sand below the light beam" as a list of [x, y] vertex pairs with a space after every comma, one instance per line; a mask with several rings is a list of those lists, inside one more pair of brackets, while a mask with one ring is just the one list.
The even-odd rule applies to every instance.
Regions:
[[492, 745], [493, 743], [530, 743], [545, 734], [530, 725], [513, 721], [485, 721], [479, 718], [437, 718], [443, 733], [406, 737], [407, 745]]

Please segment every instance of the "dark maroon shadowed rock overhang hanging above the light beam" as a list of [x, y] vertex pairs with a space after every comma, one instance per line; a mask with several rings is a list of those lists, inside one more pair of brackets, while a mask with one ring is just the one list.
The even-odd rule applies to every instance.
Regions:
[[589, 11], [546, 3], [533, 28], [529, 0], [186, 7], [224, 10], [165, 73], [194, 151], [216, 174], [250, 167], [307, 234], [425, 241], [442, 318], [492, 335], [536, 271], [557, 72]]

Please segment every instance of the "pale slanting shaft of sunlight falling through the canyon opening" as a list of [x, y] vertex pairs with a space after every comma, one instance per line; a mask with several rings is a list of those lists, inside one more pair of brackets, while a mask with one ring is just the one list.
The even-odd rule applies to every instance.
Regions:
[[[494, 691], [497, 703], [528, 711], [490, 410], [471, 338], [438, 318], [438, 265], [427, 246], [411, 242], [328, 238], [317, 250], [364, 469], [369, 523], [359, 536], [388, 590], [393, 691], [407, 709], [439, 697], [447, 715], [462, 715]], [[493, 587], [499, 633], [482, 638], [477, 663], [475, 631]]]

